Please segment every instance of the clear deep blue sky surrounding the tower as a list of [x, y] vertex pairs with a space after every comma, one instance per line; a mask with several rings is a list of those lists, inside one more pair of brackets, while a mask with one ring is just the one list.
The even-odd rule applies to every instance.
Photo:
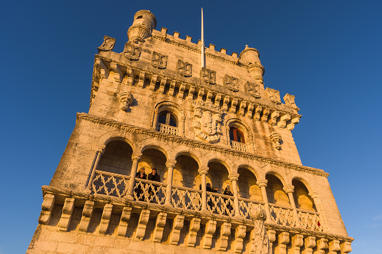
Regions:
[[[260, 51], [266, 87], [296, 96], [292, 131], [304, 165], [329, 182], [352, 253], [382, 253], [382, 2], [23, 1], [0, 8], [0, 253], [23, 253], [75, 125], [89, 109], [94, 54], [103, 36], [127, 41], [133, 15], [150, 10], [157, 30], [240, 53]], [[142, 3], [142, 4], [140, 4]], [[378, 155], [379, 154], [379, 155]], [[379, 243], [379, 244], [378, 244]]]

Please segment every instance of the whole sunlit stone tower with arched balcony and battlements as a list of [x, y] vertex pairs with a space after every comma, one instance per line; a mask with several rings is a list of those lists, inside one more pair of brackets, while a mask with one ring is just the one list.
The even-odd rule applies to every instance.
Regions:
[[350, 252], [329, 174], [301, 164], [294, 96], [264, 89], [259, 51], [210, 44], [204, 68], [201, 41], [155, 26], [139, 11], [123, 52], [98, 47], [27, 252]]

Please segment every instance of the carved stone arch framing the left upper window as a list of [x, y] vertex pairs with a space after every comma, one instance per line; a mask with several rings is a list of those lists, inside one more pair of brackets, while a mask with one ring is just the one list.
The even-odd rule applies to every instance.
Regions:
[[183, 108], [180, 105], [178, 105], [177, 103], [172, 102], [172, 101], [162, 101], [162, 102], [158, 102], [154, 105], [154, 116], [153, 116], [151, 128], [156, 130], [156, 126], [158, 123], [158, 114], [164, 110], [173, 112], [175, 114], [175, 116], [178, 118], [179, 136], [184, 137], [185, 136], [185, 134], [184, 134], [185, 127], [184, 126], [185, 126], [186, 116], [185, 116]]

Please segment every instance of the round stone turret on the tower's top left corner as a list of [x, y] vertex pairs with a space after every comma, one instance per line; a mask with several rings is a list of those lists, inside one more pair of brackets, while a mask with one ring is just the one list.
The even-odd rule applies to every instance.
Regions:
[[141, 10], [135, 13], [134, 21], [127, 31], [129, 42], [145, 42], [151, 37], [151, 32], [155, 29], [156, 18], [150, 11]]

